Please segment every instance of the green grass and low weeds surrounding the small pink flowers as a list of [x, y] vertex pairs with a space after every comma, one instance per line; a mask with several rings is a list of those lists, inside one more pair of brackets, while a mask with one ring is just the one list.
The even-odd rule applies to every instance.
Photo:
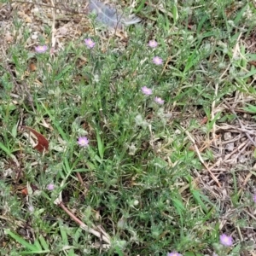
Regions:
[[[223, 208], [196, 175], [209, 173], [188, 137], [200, 134], [204, 143], [212, 139], [218, 120], [235, 119], [224, 110], [212, 119], [213, 101], [218, 106], [237, 92], [255, 99], [249, 79], [256, 72], [248, 69], [248, 61], [256, 55], [248, 54], [241, 40], [255, 26], [248, 15], [255, 15], [253, 3], [162, 1], [168, 15], [144, 2], [137, 1], [135, 8], [143, 21], [125, 29], [126, 41], [102, 38], [102, 25], [95, 23], [94, 31], [67, 40], [54, 57], [49, 50], [36, 54], [26, 47], [31, 32], [14, 16], [11, 33], [20, 29], [23, 37], [4, 44], [0, 55], [1, 255], [240, 255], [253, 250], [245, 235], [237, 235], [253, 226], [243, 212], [255, 209], [252, 191], [238, 193], [232, 170]], [[44, 26], [45, 38], [51, 38], [51, 28]], [[87, 49], [84, 38], [96, 46]], [[153, 38], [156, 49], [148, 47]], [[242, 57], [234, 55], [236, 47]], [[154, 65], [156, 55], [163, 65]], [[154, 95], [143, 95], [143, 86]], [[165, 104], [155, 103], [154, 96]], [[254, 113], [253, 100], [243, 107]], [[207, 123], [201, 125], [204, 117]], [[49, 152], [32, 148], [20, 125], [43, 134]], [[83, 136], [90, 139], [88, 148], [77, 143]], [[217, 161], [211, 148], [201, 156]], [[55, 185], [52, 191], [49, 183]], [[21, 193], [25, 187], [28, 195]], [[60, 196], [89, 228], [105, 230], [108, 248], [102, 235], [79, 227], [56, 204]], [[231, 210], [228, 222], [220, 222]], [[232, 247], [219, 245], [223, 233], [234, 237]]]

